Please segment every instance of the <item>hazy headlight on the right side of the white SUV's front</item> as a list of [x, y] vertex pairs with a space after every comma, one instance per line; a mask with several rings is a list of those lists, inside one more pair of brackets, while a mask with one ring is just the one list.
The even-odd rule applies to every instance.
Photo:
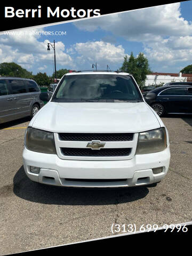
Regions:
[[147, 132], [140, 132], [136, 154], [149, 154], [163, 151], [166, 148], [165, 128], [159, 128]]

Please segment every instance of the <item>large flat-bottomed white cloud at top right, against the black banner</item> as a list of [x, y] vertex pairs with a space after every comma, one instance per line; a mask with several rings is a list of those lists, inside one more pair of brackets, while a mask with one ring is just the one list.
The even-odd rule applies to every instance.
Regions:
[[74, 25], [87, 31], [101, 28], [137, 42], [158, 41], [164, 36], [186, 36], [192, 33], [192, 25], [181, 17], [180, 3], [76, 21]]

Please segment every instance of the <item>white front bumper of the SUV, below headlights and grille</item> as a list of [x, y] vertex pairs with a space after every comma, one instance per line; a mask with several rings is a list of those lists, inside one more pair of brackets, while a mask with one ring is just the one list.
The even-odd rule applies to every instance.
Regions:
[[[47, 185], [63, 187], [133, 187], [161, 181], [170, 163], [170, 149], [135, 155], [121, 161], [78, 161], [60, 159], [57, 155], [23, 150], [23, 165], [29, 179]], [[30, 166], [40, 167], [38, 174]], [[163, 166], [163, 172], [152, 169]], [[90, 181], [91, 180], [91, 181]]]

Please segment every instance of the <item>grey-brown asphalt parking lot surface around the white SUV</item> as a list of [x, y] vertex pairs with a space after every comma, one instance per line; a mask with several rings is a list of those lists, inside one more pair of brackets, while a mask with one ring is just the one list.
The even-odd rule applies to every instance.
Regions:
[[[1, 125], [0, 254], [112, 235], [111, 225], [192, 221], [192, 117], [163, 117], [171, 163], [154, 187], [75, 189], [30, 181], [22, 166], [29, 118]], [[119, 233], [122, 234], [122, 233]]]

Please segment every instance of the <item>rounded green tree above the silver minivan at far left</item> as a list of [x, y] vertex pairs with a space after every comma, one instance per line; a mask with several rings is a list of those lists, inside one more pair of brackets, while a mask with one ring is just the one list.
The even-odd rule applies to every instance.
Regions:
[[3, 62], [0, 64], [0, 75], [31, 78], [32, 72], [27, 71], [15, 62]]

